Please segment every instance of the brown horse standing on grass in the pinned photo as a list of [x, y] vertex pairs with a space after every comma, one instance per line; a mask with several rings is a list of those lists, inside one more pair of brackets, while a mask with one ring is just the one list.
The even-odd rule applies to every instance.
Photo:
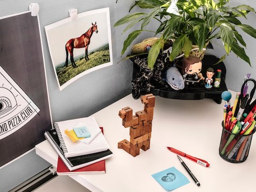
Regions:
[[98, 33], [98, 28], [95, 24], [92, 23], [92, 27], [86, 31], [83, 35], [77, 38], [71, 38], [69, 41], [66, 43], [65, 49], [66, 49], [66, 67], [68, 67], [68, 53], [70, 54], [70, 61], [72, 66], [75, 68], [76, 63], [74, 61], [74, 54], [73, 50], [74, 48], [83, 48], [85, 47], [85, 60], [89, 60], [88, 57], [88, 46], [90, 44], [90, 39], [92, 37], [93, 32]]

